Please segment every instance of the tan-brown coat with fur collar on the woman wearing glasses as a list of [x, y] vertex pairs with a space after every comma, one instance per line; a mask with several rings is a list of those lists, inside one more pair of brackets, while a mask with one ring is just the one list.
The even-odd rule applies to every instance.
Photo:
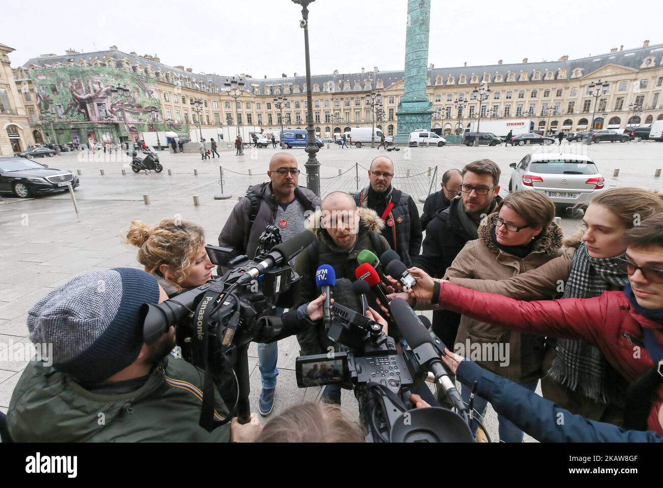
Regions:
[[[491, 216], [479, 227], [479, 238], [467, 242], [453, 260], [452, 266], [447, 269], [444, 276], [445, 279], [455, 283], [459, 278], [465, 278], [466, 282], [506, 280], [552, 262], [555, 260], [554, 258], [562, 255], [560, 248], [562, 247], [563, 232], [556, 222], [552, 222], [548, 226], [546, 235], [537, 240], [528, 256], [518, 258], [497, 248], [493, 243], [490, 233], [493, 224], [486, 223], [490, 222]], [[568, 276], [568, 266], [566, 276]], [[551, 295], [552, 293], [548, 297]], [[536, 299], [540, 296], [530, 295], [520, 298]], [[463, 347], [460, 352], [464, 352], [467, 357], [509, 380], [522, 383], [542, 376], [544, 337], [512, 332], [509, 329], [495, 327], [489, 323], [463, 316], [454, 349], [459, 349], [459, 345]], [[481, 345], [485, 345], [484, 349], [481, 349], [483, 353], [477, 356], [473, 351], [476, 351], [475, 348], [481, 347]], [[492, 353], [493, 361], [487, 361], [488, 352]], [[501, 359], [497, 355], [498, 352], [501, 353]]]

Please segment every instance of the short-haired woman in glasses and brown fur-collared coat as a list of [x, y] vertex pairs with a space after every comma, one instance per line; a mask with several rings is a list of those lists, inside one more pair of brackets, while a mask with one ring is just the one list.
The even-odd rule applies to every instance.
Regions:
[[[560, 255], [563, 232], [554, 217], [555, 205], [543, 193], [511, 193], [479, 226], [479, 238], [467, 242], [446, 277], [503, 280], [538, 268]], [[461, 355], [529, 390], [536, 389], [543, 337], [511, 332], [463, 315], [455, 344], [457, 352], [463, 350]], [[470, 389], [463, 386], [461, 392], [467, 402]], [[480, 414], [486, 405], [483, 398], [474, 398], [474, 408]], [[506, 418], [498, 418], [500, 440], [522, 442], [522, 431]]]

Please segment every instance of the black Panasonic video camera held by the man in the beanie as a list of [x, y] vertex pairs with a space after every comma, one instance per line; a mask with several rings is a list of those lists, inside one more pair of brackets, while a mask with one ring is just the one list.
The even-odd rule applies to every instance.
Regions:
[[[288, 263], [313, 240], [307, 230], [282, 242], [278, 228], [268, 226], [253, 260], [208, 245], [211, 262], [226, 270], [222, 276], [158, 305], [143, 304], [145, 343], [155, 343], [174, 326], [182, 357], [205, 371], [200, 425], [207, 430], [225, 424], [235, 412], [239, 422], [249, 422], [249, 343], [298, 332], [284, 330], [280, 319], [268, 317], [274, 318], [276, 307], [292, 307], [300, 277]], [[215, 384], [223, 398], [237, 385], [235, 406], [222, 422], [213, 418]]]

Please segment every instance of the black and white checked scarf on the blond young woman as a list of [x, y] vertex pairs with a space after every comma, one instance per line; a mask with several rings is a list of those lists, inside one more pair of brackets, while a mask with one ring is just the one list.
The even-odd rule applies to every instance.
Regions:
[[[608, 290], [608, 285], [620, 288], [629, 283], [629, 277], [617, 266], [617, 258], [592, 258], [587, 253], [587, 244], [582, 242], [573, 255], [573, 265], [564, 288], [562, 298], [598, 297]], [[548, 375], [592, 400], [609, 403], [621, 396], [620, 388], [613, 381], [612, 368], [601, 351], [579, 339], [559, 339], [557, 356]], [[607, 375], [611, 375], [608, 381]], [[610, 392], [606, 392], [609, 382]]]

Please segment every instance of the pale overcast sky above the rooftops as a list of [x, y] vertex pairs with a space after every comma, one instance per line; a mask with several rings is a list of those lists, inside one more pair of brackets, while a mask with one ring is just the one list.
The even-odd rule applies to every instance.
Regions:
[[[663, 42], [663, 10], [645, 4], [431, 0], [428, 64], [579, 58], [621, 44], [642, 46], [645, 39]], [[25, 9], [3, 9], [0, 42], [16, 49], [14, 67], [70, 47], [90, 52], [116, 44], [196, 73], [306, 72], [300, 7], [291, 0], [31, 0], [29, 7], [32, 21]], [[316, 0], [309, 10], [313, 74], [402, 70], [407, 0]], [[27, 22], [34, 28], [26, 29]]]

